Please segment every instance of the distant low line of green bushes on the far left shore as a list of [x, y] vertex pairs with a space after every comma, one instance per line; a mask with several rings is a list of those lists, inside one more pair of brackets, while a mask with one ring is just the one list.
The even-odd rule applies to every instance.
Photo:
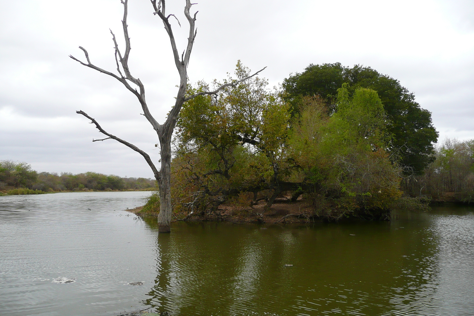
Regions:
[[72, 174], [70, 172], [36, 172], [27, 163], [0, 161], [0, 190], [27, 188], [53, 191], [108, 191], [154, 190], [155, 180], [146, 178], [121, 178], [97, 172]]

